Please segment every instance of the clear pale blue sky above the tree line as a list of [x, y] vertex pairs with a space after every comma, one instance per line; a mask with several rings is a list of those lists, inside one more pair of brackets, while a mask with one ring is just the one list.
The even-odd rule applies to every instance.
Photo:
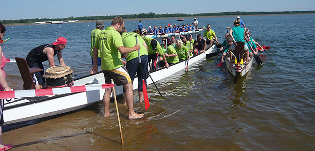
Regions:
[[[314, 0], [1, 0], [0, 20], [95, 15], [315, 10]], [[174, 0], [173, 0], [174, 1]]]

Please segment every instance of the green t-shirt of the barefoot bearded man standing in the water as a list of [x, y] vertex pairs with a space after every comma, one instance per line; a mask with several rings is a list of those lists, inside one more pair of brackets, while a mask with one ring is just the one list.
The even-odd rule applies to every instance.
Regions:
[[95, 41], [101, 53], [102, 70], [113, 70], [123, 66], [118, 47], [124, 46], [120, 33], [112, 27], [102, 30]]

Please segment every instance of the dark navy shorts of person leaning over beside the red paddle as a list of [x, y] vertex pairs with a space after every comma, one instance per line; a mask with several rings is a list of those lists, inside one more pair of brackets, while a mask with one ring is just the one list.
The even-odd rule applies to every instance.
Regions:
[[[141, 57], [141, 66], [142, 66], [142, 74], [144, 76], [144, 83], [146, 85], [146, 79], [149, 77], [149, 71], [148, 71], [148, 55], [142, 55]], [[136, 73], [138, 75], [138, 91], [142, 90], [142, 76], [140, 72], [140, 65], [139, 65], [139, 58], [134, 58], [132, 60], [127, 61], [126, 69], [129, 73], [129, 76], [131, 78], [131, 81], [133, 83], [133, 79], [136, 76]], [[124, 90], [125, 92], [125, 90]]]

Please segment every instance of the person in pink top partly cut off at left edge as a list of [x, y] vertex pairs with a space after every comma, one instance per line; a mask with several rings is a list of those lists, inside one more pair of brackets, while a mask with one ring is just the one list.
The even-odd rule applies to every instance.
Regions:
[[[3, 39], [5, 31], [6, 31], [5, 27], [0, 23], [0, 41]], [[5, 66], [6, 63], [7, 60], [4, 57], [2, 48], [0, 46], [0, 91], [12, 91], [11, 88], [9, 87], [9, 84], [5, 80], [5, 73], [3, 67]], [[2, 125], [4, 124], [3, 121], [4, 100], [5, 99], [0, 99], [0, 151], [10, 150], [13, 146], [12, 144], [4, 144], [2, 141]]]

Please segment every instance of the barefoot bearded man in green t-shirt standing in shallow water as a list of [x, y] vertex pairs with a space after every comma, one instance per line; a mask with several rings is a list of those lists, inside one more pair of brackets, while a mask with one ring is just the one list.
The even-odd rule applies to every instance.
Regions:
[[[125, 28], [125, 21], [122, 17], [117, 16], [111, 21], [110, 27], [106, 27], [105, 30], [102, 30], [99, 37], [97, 37], [93, 48], [94, 65], [92, 73], [97, 73], [97, 50], [99, 49], [105, 83], [111, 83], [111, 79], [113, 79], [117, 86], [123, 85], [126, 90], [128, 117], [129, 119], [138, 119], [142, 118], [143, 114], [138, 114], [133, 110], [133, 85], [121, 61], [121, 53], [127, 54], [139, 50], [141, 46], [136, 44], [134, 47], [125, 47], [119, 33], [123, 28]], [[112, 89], [107, 88], [103, 96], [104, 117], [112, 115], [109, 109], [111, 92]]]

